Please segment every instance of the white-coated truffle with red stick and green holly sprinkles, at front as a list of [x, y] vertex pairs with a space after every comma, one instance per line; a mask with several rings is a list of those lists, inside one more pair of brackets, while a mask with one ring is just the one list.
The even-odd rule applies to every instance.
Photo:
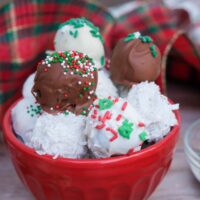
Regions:
[[141, 117], [121, 98], [97, 99], [88, 115], [85, 133], [96, 158], [139, 151], [148, 139]]

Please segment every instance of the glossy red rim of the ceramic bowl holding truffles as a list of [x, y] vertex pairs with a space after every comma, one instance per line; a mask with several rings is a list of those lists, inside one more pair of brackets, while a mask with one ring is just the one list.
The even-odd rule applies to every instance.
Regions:
[[[170, 133], [163, 138], [162, 140], [160, 140], [159, 142], [157, 142], [156, 144], [153, 144], [145, 149], [142, 149], [138, 152], [135, 152], [131, 155], [122, 155], [122, 156], [116, 156], [116, 157], [112, 157], [112, 158], [98, 158], [98, 159], [73, 159], [73, 158], [62, 158], [62, 157], [58, 157], [57, 159], [53, 159], [52, 156], [50, 155], [39, 155], [36, 153], [36, 151], [30, 147], [28, 147], [27, 145], [23, 144], [20, 140], [17, 139], [17, 137], [14, 135], [13, 130], [12, 130], [12, 125], [11, 125], [11, 110], [12, 108], [18, 103], [18, 101], [20, 101], [22, 98], [19, 98], [18, 100], [16, 100], [6, 111], [4, 118], [3, 118], [3, 123], [2, 123], [2, 127], [3, 127], [3, 137], [4, 137], [4, 141], [7, 143], [11, 143], [13, 146], [15, 146], [17, 149], [19, 149], [21, 152], [29, 154], [29, 156], [35, 157], [37, 159], [40, 160], [44, 160], [45, 162], [51, 163], [51, 164], [71, 164], [72, 166], [81, 166], [83, 167], [83, 165], [85, 167], [91, 167], [91, 165], [94, 166], [104, 166], [105, 164], [107, 165], [112, 165], [114, 163], [118, 163], [120, 162], [120, 164], [124, 164], [127, 162], [127, 160], [137, 160], [142, 158], [145, 158], [147, 156], [149, 156], [150, 154], [155, 153], [155, 151], [160, 151], [162, 149], [162, 147], [165, 145], [165, 143], [168, 143], [170, 140], [172, 140], [173, 137], [175, 137], [176, 135], [178, 136], [179, 134], [179, 130], [180, 130], [180, 124], [181, 124], [181, 116], [180, 116], [180, 112], [179, 110], [175, 110], [175, 116], [177, 119], [177, 125], [175, 125]], [[172, 104], [173, 101], [171, 101], [169, 99], [169, 102]]]

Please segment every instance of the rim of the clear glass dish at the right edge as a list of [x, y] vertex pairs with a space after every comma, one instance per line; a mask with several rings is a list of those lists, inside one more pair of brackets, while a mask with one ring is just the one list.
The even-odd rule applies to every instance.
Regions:
[[190, 146], [190, 136], [192, 135], [192, 129], [199, 125], [200, 126], [200, 119], [196, 120], [195, 122], [193, 122], [189, 127], [188, 129], [186, 130], [186, 133], [184, 135], [184, 148], [185, 148], [185, 151], [188, 152], [188, 155], [191, 154], [191, 156], [200, 161], [200, 157], [197, 155], [197, 153], [193, 150], [193, 148]]

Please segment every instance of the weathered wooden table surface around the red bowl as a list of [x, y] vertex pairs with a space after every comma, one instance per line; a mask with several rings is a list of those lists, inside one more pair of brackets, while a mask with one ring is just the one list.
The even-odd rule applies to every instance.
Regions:
[[[181, 137], [169, 172], [150, 200], [199, 200], [200, 183], [192, 175], [183, 151], [187, 127], [200, 118], [200, 93], [185, 86], [169, 85], [168, 96], [181, 104]], [[0, 142], [0, 200], [33, 200], [19, 181], [5, 146]]]

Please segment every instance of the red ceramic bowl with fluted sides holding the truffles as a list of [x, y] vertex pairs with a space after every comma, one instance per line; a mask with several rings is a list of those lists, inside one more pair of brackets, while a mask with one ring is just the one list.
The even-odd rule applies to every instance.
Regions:
[[143, 200], [165, 176], [179, 135], [178, 125], [160, 142], [134, 153], [106, 159], [75, 160], [40, 156], [12, 131], [8, 109], [4, 139], [15, 169], [37, 200]]

